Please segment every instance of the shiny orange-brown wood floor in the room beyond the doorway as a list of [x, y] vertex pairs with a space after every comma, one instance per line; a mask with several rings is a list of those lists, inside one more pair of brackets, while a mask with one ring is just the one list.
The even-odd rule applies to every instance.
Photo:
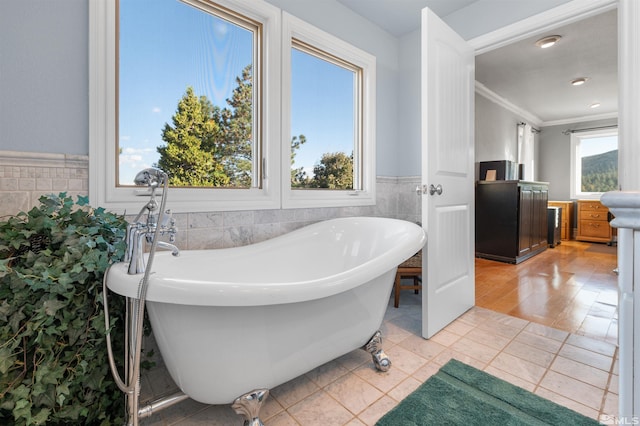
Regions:
[[476, 258], [476, 306], [617, 344], [616, 248], [562, 241], [519, 265]]

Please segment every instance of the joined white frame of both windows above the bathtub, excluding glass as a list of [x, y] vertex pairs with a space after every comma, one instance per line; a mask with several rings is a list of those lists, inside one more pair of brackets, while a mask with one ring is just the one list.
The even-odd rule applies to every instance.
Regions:
[[[200, 3], [203, 0], [184, 0]], [[215, 0], [262, 24], [262, 184], [259, 188], [172, 188], [174, 212], [375, 205], [376, 59], [345, 41], [260, 0]], [[89, 2], [89, 197], [93, 205], [133, 212], [145, 188], [117, 187], [115, 1]], [[361, 188], [291, 189], [291, 40], [296, 38], [363, 69]], [[354, 157], [358, 155], [354, 147]], [[354, 176], [354, 179], [356, 177]]]

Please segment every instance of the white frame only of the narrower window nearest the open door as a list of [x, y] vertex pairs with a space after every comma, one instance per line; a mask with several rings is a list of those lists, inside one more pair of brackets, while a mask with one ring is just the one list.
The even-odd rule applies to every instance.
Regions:
[[[360, 146], [354, 147], [354, 190], [291, 188], [291, 48], [293, 39], [362, 69]], [[365, 206], [376, 203], [376, 58], [317, 27], [282, 13], [282, 207]], [[358, 91], [356, 89], [356, 91]], [[356, 123], [357, 124], [357, 123]], [[354, 172], [356, 171], [354, 170]]]

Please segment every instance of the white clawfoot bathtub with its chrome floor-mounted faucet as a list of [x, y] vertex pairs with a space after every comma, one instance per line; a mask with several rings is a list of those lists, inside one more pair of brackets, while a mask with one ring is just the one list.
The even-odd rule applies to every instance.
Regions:
[[[132, 246], [141, 234], [149, 235], [147, 228], [159, 234], [172, 229], [132, 226], [137, 229], [129, 238]], [[131, 385], [123, 383], [130, 395], [129, 424], [192, 398], [233, 404], [245, 425], [261, 425], [258, 414], [268, 389], [354, 349], [367, 350], [376, 368], [388, 370], [378, 329], [396, 267], [425, 240], [422, 228], [407, 221], [331, 219], [237, 248], [175, 256], [177, 250], [156, 254], [152, 246], [147, 268], [136, 274], [130, 266], [142, 260], [138, 245], [138, 253], [113, 265], [105, 278], [111, 291], [127, 297], [135, 317], [129, 321]], [[164, 363], [182, 391], [142, 408], [139, 389], [133, 389], [139, 386], [141, 300]]]

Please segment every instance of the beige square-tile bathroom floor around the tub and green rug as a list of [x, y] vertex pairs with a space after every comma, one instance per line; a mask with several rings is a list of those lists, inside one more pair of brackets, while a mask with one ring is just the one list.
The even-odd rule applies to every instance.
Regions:
[[[386, 373], [356, 350], [271, 390], [261, 411], [266, 426], [374, 425], [421, 383], [456, 358], [603, 423], [618, 405], [617, 348], [474, 307], [430, 340], [420, 337], [420, 296], [390, 300], [382, 325]], [[141, 399], [175, 391], [162, 366], [142, 381]], [[241, 425], [229, 406], [187, 400], [141, 421], [143, 425]]]

